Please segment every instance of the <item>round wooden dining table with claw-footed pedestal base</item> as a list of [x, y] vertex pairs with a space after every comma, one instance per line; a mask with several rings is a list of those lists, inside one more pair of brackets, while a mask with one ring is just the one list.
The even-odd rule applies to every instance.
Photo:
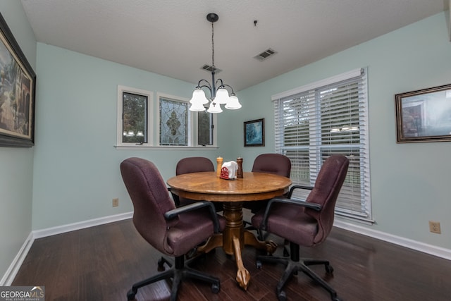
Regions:
[[251, 172], [243, 173], [243, 178], [225, 180], [216, 176], [216, 172], [208, 171], [184, 173], [168, 179], [167, 184], [171, 192], [179, 197], [223, 202], [226, 228], [222, 233], [212, 236], [205, 245], [197, 249], [197, 252], [206, 253], [216, 247], [222, 247], [226, 254], [235, 255], [236, 280], [241, 288], [247, 290], [251, 277], [242, 262], [242, 248], [245, 245], [252, 245], [272, 254], [277, 245], [271, 241], [258, 240], [254, 233], [245, 230], [242, 204], [284, 195], [292, 184], [291, 180], [271, 173]]

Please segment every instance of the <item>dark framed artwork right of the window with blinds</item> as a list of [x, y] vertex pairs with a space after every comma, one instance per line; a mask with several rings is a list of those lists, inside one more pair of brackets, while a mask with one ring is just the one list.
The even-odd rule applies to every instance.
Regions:
[[451, 141], [451, 84], [395, 95], [397, 142]]

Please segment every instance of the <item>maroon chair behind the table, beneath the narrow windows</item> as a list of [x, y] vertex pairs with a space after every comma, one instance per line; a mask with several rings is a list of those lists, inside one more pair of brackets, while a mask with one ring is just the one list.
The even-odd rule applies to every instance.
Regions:
[[[214, 171], [213, 162], [204, 156], [188, 156], [180, 159], [175, 166], [175, 175], [183, 175], [184, 173], [200, 173], [202, 171]], [[171, 191], [171, 190], [169, 190]], [[185, 199], [185, 197], [179, 197], [172, 194], [175, 205], [186, 205], [192, 202], [196, 202], [193, 199]], [[216, 212], [223, 210], [222, 202], [213, 202]]]

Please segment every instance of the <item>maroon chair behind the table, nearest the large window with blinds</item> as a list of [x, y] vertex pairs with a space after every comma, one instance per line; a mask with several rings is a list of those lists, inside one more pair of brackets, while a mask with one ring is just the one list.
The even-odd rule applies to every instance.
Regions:
[[[283, 154], [259, 154], [254, 160], [252, 172], [257, 173], [273, 173], [275, 175], [290, 178], [291, 161], [288, 156]], [[243, 208], [250, 209], [252, 213], [256, 213], [268, 204], [267, 200], [244, 202]]]

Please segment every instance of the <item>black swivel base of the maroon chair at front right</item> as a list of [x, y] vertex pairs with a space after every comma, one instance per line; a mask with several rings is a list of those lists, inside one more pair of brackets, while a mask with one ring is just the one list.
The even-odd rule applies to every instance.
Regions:
[[295, 245], [292, 242], [290, 242], [290, 253], [291, 257], [273, 257], [271, 255], [257, 256], [258, 269], [261, 269], [261, 262], [273, 262], [285, 265], [285, 271], [277, 285], [276, 293], [279, 301], [287, 300], [285, 291], [283, 291], [283, 287], [285, 286], [285, 283], [287, 283], [287, 281], [290, 279], [292, 275], [297, 275], [298, 271], [302, 271], [316, 283], [325, 288], [328, 291], [328, 293], [330, 293], [331, 300], [341, 301], [340, 297], [337, 296], [337, 292], [332, 287], [330, 287], [330, 285], [328, 285], [326, 281], [324, 281], [322, 278], [316, 275], [315, 272], [309, 269], [308, 267], [310, 265], [315, 264], [324, 264], [326, 272], [328, 274], [333, 274], [333, 267], [330, 266], [330, 263], [327, 260], [299, 258], [299, 245]]

